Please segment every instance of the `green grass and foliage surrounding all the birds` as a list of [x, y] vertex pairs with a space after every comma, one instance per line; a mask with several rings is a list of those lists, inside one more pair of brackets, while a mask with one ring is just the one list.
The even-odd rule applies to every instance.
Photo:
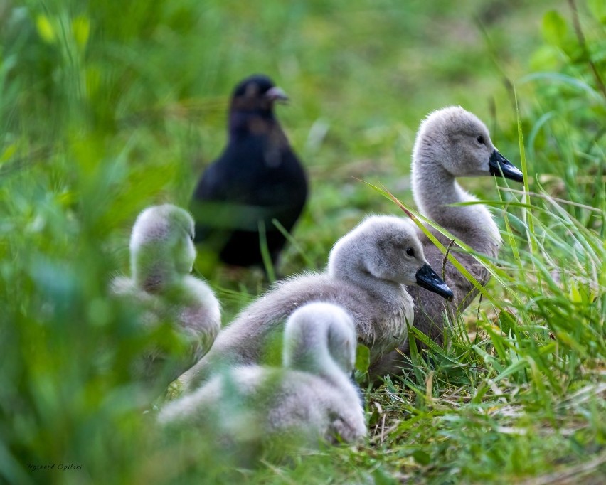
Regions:
[[[602, 483], [606, 11], [570, 3], [0, 5], [0, 483]], [[247, 471], [200, 432], [156, 435], [128, 366], [158, 336], [107, 284], [142, 208], [187, 206], [255, 72], [292, 98], [278, 116], [312, 183], [284, 274], [324, 267], [365, 213], [403, 215], [360, 180], [413, 207], [439, 107], [484, 119], [527, 184], [463, 181], [504, 248], [447, 344], [413, 331], [431, 358], [366, 390], [368, 440]], [[225, 322], [263, 290], [228, 276], [210, 275]]]

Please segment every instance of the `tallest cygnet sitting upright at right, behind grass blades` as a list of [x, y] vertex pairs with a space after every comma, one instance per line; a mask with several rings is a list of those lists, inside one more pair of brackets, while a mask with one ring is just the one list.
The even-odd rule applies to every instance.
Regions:
[[[432, 112], [422, 123], [413, 148], [413, 196], [420, 212], [430, 220], [442, 225], [457, 238], [477, 252], [496, 257], [501, 236], [489, 210], [482, 205], [456, 206], [449, 204], [477, 201], [464, 191], [455, 178], [472, 176], [504, 176], [523, 182], [521, 171], [516, 169], [495, 148], [488, 129], [474, 114], [459, 106], [447, 107]], [[432, 230], [444, 245], [450, 240]], [[435, 245], [420, 235], [427, 261], [432, 267], [442, 267], [444, 255]], [[486, 284], [489, 272], [472, 255], [457, 250], [454, 257], [477, 279]], [[442, 343], [444, 314], [454, 309], [462, 311], [472, 302], [477, 289], [450, 262], [447, 262], [445, 280], [452, 288], [454, 299], [447, 305], [417, 288], [410, 288], [415, 302], [415, 327]], [[408, 341], [399, 348], [408, 353]], [[397, 372], [403, 366], [398, 351], [388, 353], [371, 368], [378, 376]]]

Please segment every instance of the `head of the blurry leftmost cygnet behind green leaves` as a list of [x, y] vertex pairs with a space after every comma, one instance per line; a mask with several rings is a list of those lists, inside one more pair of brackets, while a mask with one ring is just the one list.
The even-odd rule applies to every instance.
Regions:
[[139, 214], [130, 238], [132, 276], [154, 289], [191, 272], [196, 259], [193, 218], [172, 204], [152, 206]]

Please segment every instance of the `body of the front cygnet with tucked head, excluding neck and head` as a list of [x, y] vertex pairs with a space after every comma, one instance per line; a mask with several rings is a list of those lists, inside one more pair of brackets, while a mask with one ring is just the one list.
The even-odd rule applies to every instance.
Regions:
[[290, 437], [314, 446], [319, 439], [353, 442], [366, 434], [356, 385], [288, 368], [237, 366], [161, 412], [160, 420], [204, 424], [233, 442], [258, 447]]

